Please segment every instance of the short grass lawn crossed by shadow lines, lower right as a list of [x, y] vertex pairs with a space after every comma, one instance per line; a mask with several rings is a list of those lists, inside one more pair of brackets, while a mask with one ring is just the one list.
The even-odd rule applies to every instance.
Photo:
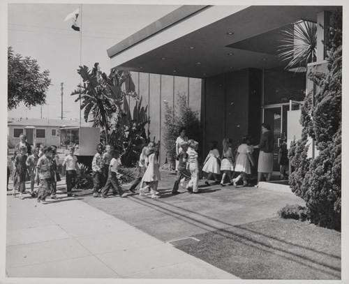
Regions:
[[341, 279], [341, 233], [279, 217], [198, 234], [177, 246], [242, 279]]

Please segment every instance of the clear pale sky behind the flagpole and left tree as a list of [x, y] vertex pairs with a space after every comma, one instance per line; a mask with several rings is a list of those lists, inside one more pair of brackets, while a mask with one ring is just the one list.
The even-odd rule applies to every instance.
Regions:
[[[23, 104], [9, 118], [61, 119], [61, 82], [64, 83], [64, 119], [78, 119], [79, 103], [70, 96], [80, 83], [79, 32], [64, 22], [79, 4], [8, 3], [8, 46], [15, 54], [36, 59], [40, 71], [50, 70], [52, 86], [46, 105], [28, 109]], [[94, 63], [109, 73], [107, 49], [178, 8], [179, 5], [82, 4], [82, 65]]]

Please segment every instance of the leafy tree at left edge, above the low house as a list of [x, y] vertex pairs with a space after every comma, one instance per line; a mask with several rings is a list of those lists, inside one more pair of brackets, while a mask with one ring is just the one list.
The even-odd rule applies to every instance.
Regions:
[[43, 105], [51, 84], [49, 70], [40, 73], [35, 59], [13, 54], [8, 47], [8, 110], [15, 109], [21, 102], [26, 107]]

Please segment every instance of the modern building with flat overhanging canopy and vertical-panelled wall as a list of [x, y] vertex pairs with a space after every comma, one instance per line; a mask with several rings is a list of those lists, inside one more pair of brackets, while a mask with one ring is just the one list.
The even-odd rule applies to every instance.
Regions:
[[[212, 140], [224, 137], [231, 137], [237, 147], [242, 136], [250, 134], [257, 144], [265, 122], [275, 135], [274, 170], [279, 170], [281, 135], [285, 133], [288, 142], [299, 138], [304, 97], [318, 89], [306, 80], [306, 72], [285, 70], [288, 62], [278, 57], [281, 31], [299, 21], [316, 23], [317, 61], [311, 66], [325, 69], [323, 42], [335, 9], [181, 6], [110, 47], [107, 54], [110, 67], [130, 71], [135, 91], [146, 98], [151, 137], [163, 141], [164, 101], [175, 106], [175, 95], [186, 92], [189, 105], [200, 110], [200, 155], [207, 155]], [[160, 161], [165, 161], [163, 146]]]

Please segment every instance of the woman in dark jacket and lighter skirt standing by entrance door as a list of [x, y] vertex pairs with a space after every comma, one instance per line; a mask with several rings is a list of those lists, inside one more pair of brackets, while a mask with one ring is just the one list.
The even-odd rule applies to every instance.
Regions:
[[262, 124], [262, 137], [260, 137], [260, 144], [253, 148], [260, 149], [260, 156], [258, 158], [258, 187], [262, 174], [267, 174], [267, 181], [270, 180], [273, 172], [273, 151], [274, 151], [274, 133], [270, 130], [269, 124]]

